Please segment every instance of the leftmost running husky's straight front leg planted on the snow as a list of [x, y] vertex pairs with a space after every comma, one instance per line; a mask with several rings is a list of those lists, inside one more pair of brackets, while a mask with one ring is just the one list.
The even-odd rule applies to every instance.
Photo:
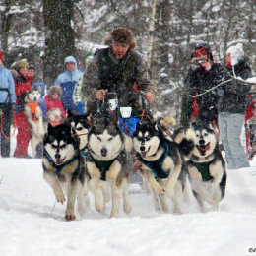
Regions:
[[67, 202], [67, 210], [66, 210], [66, 220], [73, 221], [76, 217], [74, 215], [74, 205], [78, 190], [78, 181], [77, 180], [69, 180], [68, 181], [68, 202]]

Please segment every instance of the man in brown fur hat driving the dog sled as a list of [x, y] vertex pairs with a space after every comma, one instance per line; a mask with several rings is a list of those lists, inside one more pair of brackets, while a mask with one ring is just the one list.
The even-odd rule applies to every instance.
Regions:
[[134, 50], [137, 46], [133, 33], [117, 27], [105, 38], [107, 48], [98, 49], [83, 79], [82, 96], [88, 98], [88, 111], [96, 110], [96, 100], [103, 100], [106, 90], [115, 92], [120, 106], [140, 109], [134, 83], [144, 91], [148, 102], [153, 102], [156, 88], [149, 79], [148, 68]]

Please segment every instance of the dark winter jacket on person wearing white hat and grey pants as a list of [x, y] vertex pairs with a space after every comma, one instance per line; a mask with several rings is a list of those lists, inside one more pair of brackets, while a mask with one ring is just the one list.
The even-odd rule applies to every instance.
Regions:
[[[227, 68], [227, 72], [233, 74], [232, 67]], [[234, 65], [235, 76], [243, 80], [252, 76], [249, 66], [248, 57], [243, 57], [236, 65]], [[225, 80], [230, 79], [228, 74], [225, 75]], [[245, 113], [246, 95], [249, 93], [251, 86], [239, 84], [236, 80], [232, 80], [218, 90], [219, 112], [229, 113]]]

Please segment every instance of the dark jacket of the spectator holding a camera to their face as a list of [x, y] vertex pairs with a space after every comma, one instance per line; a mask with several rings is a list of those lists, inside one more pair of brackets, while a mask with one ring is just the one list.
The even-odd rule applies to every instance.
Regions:
[[[192, 104], [194, 98], [191, 96], [204, 93], [224, 79], [224, 69], [221, 64], [214, 63], [211, 69], [203, 72], [199, 67], [195, 70], [190, 69], [184, 81], [185, 88], [181, 105], [181, 125], [188, 125], [193, 112]], [[196, 101], [198, 105], [198, 120], [211, 122], [218, 118], [218, 94], [217, 91], [211, 91], [204, 96], [198, 96]]]

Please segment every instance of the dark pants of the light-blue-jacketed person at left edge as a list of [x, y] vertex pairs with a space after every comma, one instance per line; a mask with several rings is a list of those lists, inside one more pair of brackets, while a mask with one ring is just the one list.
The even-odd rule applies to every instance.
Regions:
[[3, 158], [7, 158], [7, 157], [10, 157], [10, 138], [5, 138], [4, 135], [6, 135], [7, 137], [10, 137], [10, 130], [12, 125], [12, 105], [0, 103], [0, 110], [2, 111], [2, 115], [0, 119], [1, 156]]

